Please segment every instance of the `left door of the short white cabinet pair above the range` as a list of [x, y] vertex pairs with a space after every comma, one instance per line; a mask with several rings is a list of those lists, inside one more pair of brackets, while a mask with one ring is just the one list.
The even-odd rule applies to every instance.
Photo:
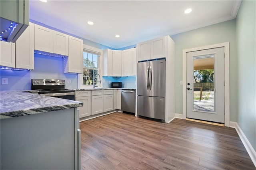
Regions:
[[53, 30], [35, 24], [35, 49], [53, 53]]

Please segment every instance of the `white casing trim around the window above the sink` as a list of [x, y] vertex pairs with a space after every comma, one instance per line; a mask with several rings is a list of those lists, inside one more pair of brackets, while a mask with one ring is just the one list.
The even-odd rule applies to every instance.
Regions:
[[[102, 49], [98, 49], [98, 48], [95, 48], [95, 47], [92, 47], [92, 46], [89, 46], [89, 45], [86, 45], [84, 44], [83, 45], [83, 48], [85, 49], [90, 49], [92, 51], [96, 51], [98, 53], [100, 53], [100, 80], [101, 80], [101, 84], [99, 87], [103, 87], [102, 83], [103, 83], [103, 77], [102, 77], [102, 73], [103, 73], [103, 50]], [[83, 74], [78, 74], [78, 82], [77, 82], [77, 85], [78, 85], [78, 89], [91, 89], [93, 88], [92, 85], [83, 85], [83, 82], [82, 82], [82, 77], [83, 77]]]

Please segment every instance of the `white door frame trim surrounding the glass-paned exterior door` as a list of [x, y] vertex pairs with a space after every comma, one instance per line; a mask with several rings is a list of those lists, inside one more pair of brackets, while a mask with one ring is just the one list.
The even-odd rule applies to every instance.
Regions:
[[182, 79], [183, 79], [183, 85], [182, 85], [182, 119], [186, 119], [187, 115], [187, 109], [186, 109], [186, 53], [192, 52], [192, 51], [199, 51], [199, 50], [205, 50], [205, 49], [211, 49], [211, 48], [218, 48], [218, 47], [224, 47], [224, 81], [225, 81], [225, 87], [224, 87], [224, 111], [225, 111], [225, 117], [224, 117], [224, 124], [226, 127], [230, 127], [230, 92], [229, 92], [229, 42], [225, 43], [218, 43], [213, 45], [206, 45], [202, 47], [195, 47], [195, 48], [189, 48], [189, 49], [183, 49], [183, 73], [182, 73]]

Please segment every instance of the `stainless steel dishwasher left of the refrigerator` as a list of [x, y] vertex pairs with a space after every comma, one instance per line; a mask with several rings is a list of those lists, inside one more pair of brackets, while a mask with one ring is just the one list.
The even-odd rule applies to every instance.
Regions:
[[121, 110], [135, 114], [135, 90], [121, 91]]

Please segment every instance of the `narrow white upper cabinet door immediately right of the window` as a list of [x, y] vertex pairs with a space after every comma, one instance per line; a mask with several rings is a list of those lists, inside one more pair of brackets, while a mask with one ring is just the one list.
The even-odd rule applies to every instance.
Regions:
[[103, 76], [112, 76], [112, 55], [111, 49], [103, 50]]

